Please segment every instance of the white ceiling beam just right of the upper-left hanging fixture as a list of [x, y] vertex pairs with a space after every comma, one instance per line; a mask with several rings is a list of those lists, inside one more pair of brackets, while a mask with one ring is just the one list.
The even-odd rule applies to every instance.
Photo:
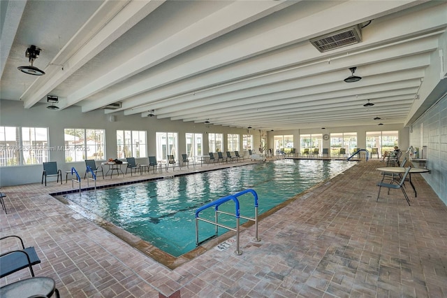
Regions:
[[[163, 1], [105, 1], [20, 97], [31, 108]], [[62, 67], [61, 67], [62, 65]], [[68, 99], [59, 108], [68, 106]]]

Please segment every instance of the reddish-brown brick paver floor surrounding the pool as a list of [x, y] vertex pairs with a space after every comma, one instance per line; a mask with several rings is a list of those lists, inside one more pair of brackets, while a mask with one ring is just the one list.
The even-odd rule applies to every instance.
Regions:
[[36, 276], [61, 297], [447, 297], [447, 206], [420, 175], [417, 198], [406, 186], [411, 206], [400, 190], [376, 202], [380, 166], [359, 162], [299, 195], [261, 220], [260, 242], [244, 229], [242, 255], [210, 249], [173, 270], [48, 194], [65, 182], [2, 187], [0, 231], [36, 247]]

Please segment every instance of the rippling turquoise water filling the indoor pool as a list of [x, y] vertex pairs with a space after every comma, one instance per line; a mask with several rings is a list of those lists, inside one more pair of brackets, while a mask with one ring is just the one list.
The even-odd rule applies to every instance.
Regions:
[[[331, 160], [282, 159], [96, 192], [67, 194], [66, 199], [166, 253], [179, 257], [196, 248], [195, 211], [198, 207], [251, 188], [258, 194], [258, 213], [262, 214], [354, 164]], [[253, 195], [244, 194], [238, 199], [241, 215], [254, 216]], [[229, 201], [219, 210], [234, 213], [234, 202]], [[203, 211], [200, 217], [212, 219], [212, 211], [212, 208]], [[235, 226], [235, 219], [230, 216], [219, 218], [219, 222]], [[214, 234], [213, 225], [200, 222], [199, 227], [200, 239]], [[227, 231], [219, 228], [220, 234]]]

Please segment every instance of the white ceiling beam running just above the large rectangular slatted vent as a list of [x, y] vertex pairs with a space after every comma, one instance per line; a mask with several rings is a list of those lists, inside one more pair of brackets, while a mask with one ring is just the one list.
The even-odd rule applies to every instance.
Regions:
[[[314, 1], [313, 3], [318, 5], [318, 2], [320, 1]], [[228, 43], [227, 47], [221, 47], [217, 50], [213, 49], [209, 53], [203, 52], [203, 55], [200, 55], [197, 59], [179, 62], [178, 66], [170, 66], [167, 70], [162, 69], [154, 73], [152, 77], [124, 88], [122, 92], [103, 97], [98, 103], [95, 101], [82, 106], [82, 111], [91, 111], [107, 102], [121, 101], [130, 96], [153, 90], [156, 87], [182, 80], [191, 75], [198, 75], [199, 73], [237, 62], [240, 59], [254, 57], [254, 55], [274, 50], [280, 46], [305, 41], [309, 38], [307, 32], [327, 32], [344, 27], [346, 24], [358, 24], [374, 17], [386, 15], [390, 10], [416, 5], [417, 1], [385, 1], [382, 4], [378, 6], [374, 1], [346, 1], [337, 6], [332, 6], [330, 10], [321, 10], [307, 17], [302, 17], [300, 20], [291, 20], [291, 22], [269, 31], [260, 29], [257, 35], [253, 34], [253, 32], [248, 32], [243, 41]], [[356, 13], [346, 13], [346, 11], [353, 9], [356, 9]], [[344, 15], [345, 17], [332, 17], [334, 14]], [[315, 19], [325, 20], [325, 22], [313, 22], [312, 20]], [[300, 28], [300, 30], [296, 28]], [[287, 34], [284, 34], [284, 32], [287, 32]]]

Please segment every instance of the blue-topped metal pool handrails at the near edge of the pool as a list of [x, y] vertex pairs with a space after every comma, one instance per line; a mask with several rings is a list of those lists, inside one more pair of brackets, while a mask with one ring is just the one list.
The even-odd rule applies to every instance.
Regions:
[[[254, 218], [249, 218], [247, 216], [242, 216], [240, 215], [240, 204], [239, 204], [239, 200], [237, 199], [237, 197], [242, 196], [242, 194], [247, 194], [247, 193], [251, 193], [254, 196]], [[234, 201], [235, 202], [235, 213], [228, 213], [225, 211], [219, 211], [219, 206], [223, 203], [226, 203], [227, 201]], [[205, 218], [200, 218], [199, 213], [207, 208], [211, 208], [214, 207], [214, 221], [212, 220], [207, 220]], [[222, 225], [219, 223], [219, 213], [220, 214], [226, 214], [226, 215], [233, 215], [236, 218], [236, 227], [228, 227], [226, 225]], [[198, 208], [196, 210], [196, 246], [199, 246], [200, 243], [203, 243], [205, 241], [207, 241], [208, 239], [214, 238], [214, 236], [217, 236], [218, 232], [219, 232], [219, 227], [223, 227], [226, 229], [230, 229], [231, 231], [236, 232], [236, 250], [234, 252], [235, 255], [242, 255], [242, 250], [240, 250], [240, 218], [243, 218], [245, 220], [251, 220], [255, 223], [255, 237], [254, 237], [254, 241], [259, 242], [261, 241], [261, 239], [258, 238], [258, 194], [256, 194], [256, 192], [254, 190], [251, 189], [247, 189], [247, 190], [242, 190], [242, 192], [237, 192], [236, 194], [230, 194], [226, 197], [221, 197], [220, 199], [217, 199], [216, 201], [212, 201], [211, 203], [206, 204], [205, 206], [202, 206], [200, 208]], [[198, 222], [199, 220], [203, 221], [203, 222], [208, 222], [212, 225], [216, 226], [216, 231], [214, 236], [211, 236], [208, 239], [205, 239], [203, 241], [198, 241]]]

